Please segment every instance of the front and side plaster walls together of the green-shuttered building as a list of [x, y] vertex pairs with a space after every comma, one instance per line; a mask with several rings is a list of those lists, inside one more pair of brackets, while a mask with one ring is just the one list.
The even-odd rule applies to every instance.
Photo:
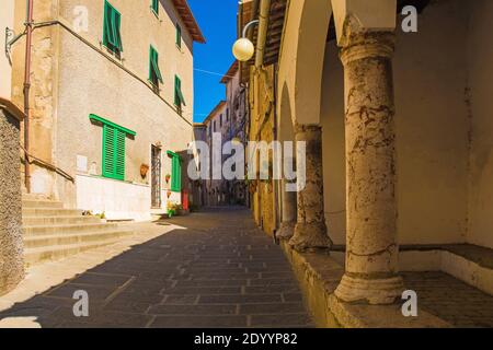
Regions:
[[[22, 31], [25, 16], [24, 2], [16, 0], [18, 32]], [[74, 12], [76, 7], [84, 7], [89, 26], [87, 32], [77, 33], [82, 38], [60, 25], [35, 31], [31, 151], [71, 176], [78, 173], [77, 155], [85, 156], [88, 172], [100, 175], [102, 128], [89, 120], [90, 114], [96, 114], [137, 132], [135, 140], [126, 140], [126, 180], [148, 184], [150, 174], [142, 179], [139, 168], [140, 164], [150, 164], [150, 145], [160, 142], [163, 147], [164, 176], [171, 173], [165, 151], [185, 150], [192, 140], [193, 43], [170, 0], [161, 1], [159, 19], [147, 2], [114, 0], [111, 3], [122, 14], [122, 59], [108, 55], [101, 45], [104, 1], [35, 2], [36, 22], [59, 20], [76, 30], [76, 19], [80, 15]], [[176, 22], [182, 26], [181, 48], [175, 45]], [[15, 47], [13, 82], [14, 97], [21, 105], [23, 45], [21, 40]], [[148, 83], [150, 45], [160, 52], [164, 80], [160, 97]], [[175, 74], [182, 80], [186, 101], [182, 116], [173, 104]], [[76, 206], [74, 185], [66, 178], [33, 166], [32, 182], [34, 192], [62, 199], [68, 207]]]

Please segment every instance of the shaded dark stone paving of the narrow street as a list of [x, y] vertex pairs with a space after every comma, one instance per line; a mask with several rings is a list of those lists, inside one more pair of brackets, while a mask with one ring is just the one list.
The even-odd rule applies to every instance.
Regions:
[[[0, 313], [43, 327], [312, 327], [280, 248], [250, 212], [172, 220], [174, 230]], [[163, 223], [165, 224], [165, 223]], [[89, 293], [90, 316], [73, 315]]]

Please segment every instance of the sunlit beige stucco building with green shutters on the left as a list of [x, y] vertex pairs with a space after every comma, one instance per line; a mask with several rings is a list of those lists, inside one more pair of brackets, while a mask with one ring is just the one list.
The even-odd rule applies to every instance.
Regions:
[[[25, 1], [15, 4], [20, 33]], [[181, 203], [193, 44], [204, 43], [186, 1], [43, 0], [34, 19], [31, 192], [108, 219], [146, 220]], [[21, 105], [23, 57], [21, 39], [12, 55]]]

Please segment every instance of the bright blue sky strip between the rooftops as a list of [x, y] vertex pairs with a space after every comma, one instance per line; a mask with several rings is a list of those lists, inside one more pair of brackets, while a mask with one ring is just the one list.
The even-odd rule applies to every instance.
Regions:
[[207, 40], [194, 45], [194, 121], [200, 122], [226, 97], [219, 81], [234, 60], [231, 47], [237, 38], [238, 0], [188, 0], [188, 4]]

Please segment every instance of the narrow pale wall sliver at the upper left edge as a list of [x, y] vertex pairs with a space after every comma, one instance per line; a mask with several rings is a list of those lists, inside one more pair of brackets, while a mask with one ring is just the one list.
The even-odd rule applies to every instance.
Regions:
[[14, 0], [2, 0], [0, 11], [0, 97], [11, 100], [12, 68], [4, 55], [5, 27], [13, 28]]

